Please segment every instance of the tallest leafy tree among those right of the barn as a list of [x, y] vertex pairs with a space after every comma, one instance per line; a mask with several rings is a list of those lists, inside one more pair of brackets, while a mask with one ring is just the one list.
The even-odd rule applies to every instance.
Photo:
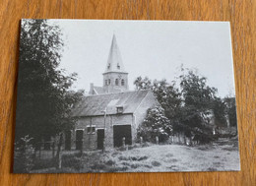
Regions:
[[180, 88], [184, 100], [181, 123], [186, 127], [185, 135], [191, 137], [192, 129], [211, 134], [209, 117], [214, 110], [217, 89], [207, 86], [207, 79], [189, 70], [180, 77]]

